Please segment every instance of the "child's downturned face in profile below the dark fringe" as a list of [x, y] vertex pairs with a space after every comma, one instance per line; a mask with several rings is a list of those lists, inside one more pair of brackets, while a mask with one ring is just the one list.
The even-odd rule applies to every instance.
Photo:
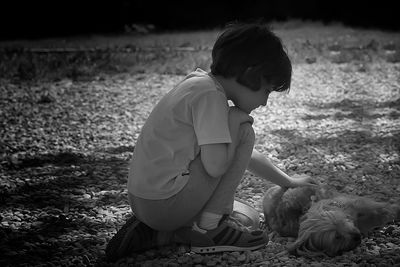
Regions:
[[261, 89], [252, 91], [251, 89], [242, 86], [243, 90], [240, 96], [234, 101], [235, 105], [250, 114], [254, 109], [260, 106], [266, 106], [269, 94], [272, 92], [273, 86], [265, 81], [261, 83]]

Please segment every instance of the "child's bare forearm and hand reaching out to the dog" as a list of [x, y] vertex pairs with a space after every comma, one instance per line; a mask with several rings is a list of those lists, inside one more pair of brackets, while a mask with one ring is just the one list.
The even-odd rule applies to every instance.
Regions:
[[255, 175], [281, 187], [316, 185], [311, 177], [292, 178], [288, 176], [286, 173], [275, 167], [267, 157], [255, 149], [253, 149], [247, 169]]

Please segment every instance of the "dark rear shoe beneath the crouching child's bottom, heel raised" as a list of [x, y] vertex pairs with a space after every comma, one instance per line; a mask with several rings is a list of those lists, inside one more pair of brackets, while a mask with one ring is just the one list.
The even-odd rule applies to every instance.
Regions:
[[133, 215], [107, 244], [106, 257], [117, 261], [132, 252], [157, 247], [157, 233]]

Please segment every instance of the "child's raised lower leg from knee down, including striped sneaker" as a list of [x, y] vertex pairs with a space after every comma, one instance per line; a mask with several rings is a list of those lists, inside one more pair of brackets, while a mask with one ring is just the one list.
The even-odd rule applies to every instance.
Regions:
[[[231, 133], [232, 134], [232, 133]], [[249, 230], [230, 215], [236, 189], [251, 158], [254, 146], [254, 131], [249, 123], [242, 124], [238, 131], [235, 156], [228, 171], [219, 179], [215, 190], [199, 214], [199, 220], [191, 231], [177, 231], [177, 241], [189, 242], [197, 253], [219, 251], [246, 251], [265, 246], [268, 236], [261, 230]]]

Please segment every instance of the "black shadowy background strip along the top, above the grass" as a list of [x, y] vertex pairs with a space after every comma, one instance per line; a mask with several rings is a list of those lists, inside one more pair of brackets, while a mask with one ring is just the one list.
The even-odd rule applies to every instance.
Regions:
[[398, 10], [388, 0], [9, 0], [0, 3], [0, 30], [1, 39], [21, 39], [121, 33], [132, 23], [169, 31], [216, 28], [232, 20], [304, 19], [400, 31]]

